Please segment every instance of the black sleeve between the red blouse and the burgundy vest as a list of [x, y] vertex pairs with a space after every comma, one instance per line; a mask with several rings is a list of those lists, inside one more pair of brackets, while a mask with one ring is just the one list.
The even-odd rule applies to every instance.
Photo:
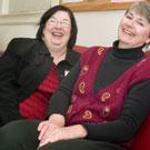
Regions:
[[59, 89], [56, 90], [56, 92], [53, 93], [50, 101], [48, 116], [52, 113], [60, 113], [62, 116], [66, 116], [79, 71], [80, 63], [78, 61], [77, 64], [71, 69], [69, 74], [61, 81]]

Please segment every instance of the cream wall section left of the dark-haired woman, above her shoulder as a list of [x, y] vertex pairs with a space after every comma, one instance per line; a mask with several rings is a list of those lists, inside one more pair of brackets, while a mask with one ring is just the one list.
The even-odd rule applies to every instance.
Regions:
[[16, 37], [34, 38], [41, 14], [0, 16], [0, 51]]

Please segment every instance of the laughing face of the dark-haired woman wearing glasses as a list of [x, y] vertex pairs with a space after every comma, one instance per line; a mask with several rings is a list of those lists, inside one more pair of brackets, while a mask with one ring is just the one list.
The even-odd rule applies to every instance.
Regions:
[[71, 32], [71, 20], [66, 11], [57, 11], [46, 22], [43, 38], [50, 47], [67, 47]]

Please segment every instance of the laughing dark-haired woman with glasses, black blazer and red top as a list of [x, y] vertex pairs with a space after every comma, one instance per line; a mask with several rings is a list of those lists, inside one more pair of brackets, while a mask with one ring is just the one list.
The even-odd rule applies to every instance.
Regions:
[[0, 58], [0, 126], [46, 118], [50, 97], [79, 59], [77, 32], [71, 10], [56, 6], [41, 17], [36, 39], [10, 41]]

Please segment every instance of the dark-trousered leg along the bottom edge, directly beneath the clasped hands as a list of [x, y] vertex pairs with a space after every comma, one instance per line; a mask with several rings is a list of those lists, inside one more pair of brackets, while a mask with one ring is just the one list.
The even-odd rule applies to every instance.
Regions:
[[62, 140], [48, 143], [39, 150], [127, 150], [113, 143], [84, 139]]

